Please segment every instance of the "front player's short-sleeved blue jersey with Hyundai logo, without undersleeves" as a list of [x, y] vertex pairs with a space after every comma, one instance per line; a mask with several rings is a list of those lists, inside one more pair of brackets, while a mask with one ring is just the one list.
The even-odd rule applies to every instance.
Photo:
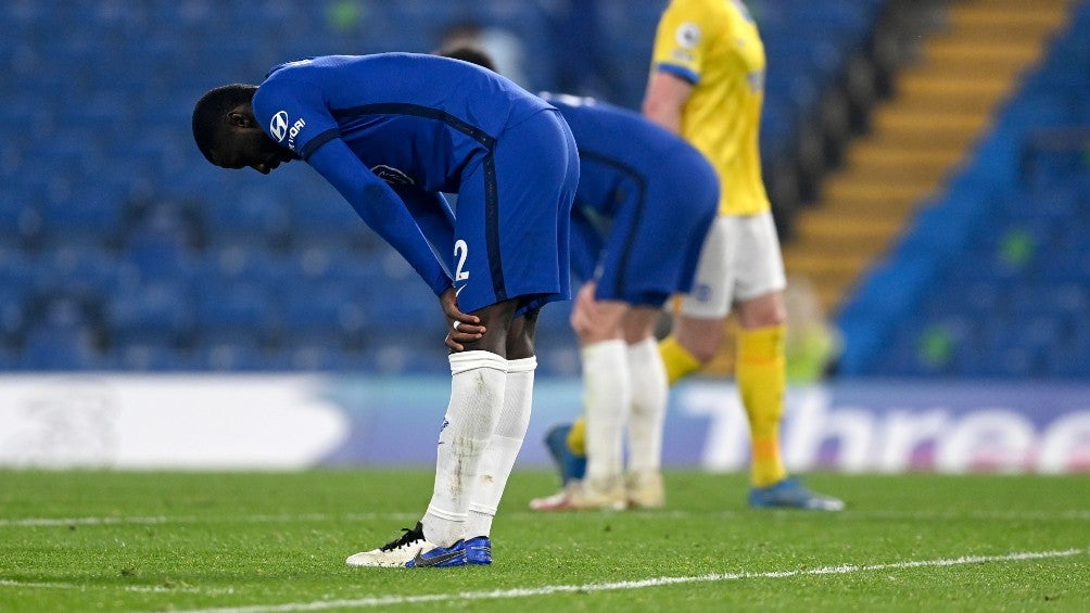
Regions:
[[339, 137], [389, 182], [448, 193], [505, 126], [546, 108], [491, 71], [415, 53], [283, 63], [254, 96], [261, 125], [304, 160]]

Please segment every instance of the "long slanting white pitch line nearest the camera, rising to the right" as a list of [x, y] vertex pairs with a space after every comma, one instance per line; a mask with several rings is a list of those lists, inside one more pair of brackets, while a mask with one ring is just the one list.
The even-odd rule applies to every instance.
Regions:
[[772, 571], [765, 573], [726, 573], [707, 574], [690, 577], [655, 577], [649, 579], [637, 579], [631, 581], [610, 581], [602, 584], [583, 585], [558, 585], [542, 586], [537, 588], [516, 588], [492, 591], [463, 591], [453, 593], [432, 593], [421, 596], [383, 596], [367, 597], [346, 600], [326, 600], [314, 602], [289, 602], [282, 604], [254, 604], [246, 606], [225, 606], [216, 609], [194, 609], [179, 613], [281, 613], [291, 611], [322, 611], [325, 609], [342, 608], [365, 608], [402, 604], [421, 604], [425, 602], [453, 602], [473, 600], [505, 600], [514, 598], [528, 598], [534, 596], [549, 596], [553, 593], [572, 592], [597, 592], [618, 591], [652, 588], [659, 586], [670, 586], [679, 584], [706, 584], [720, 581], [735, 581], [741, 579], [783, 579], [790, 577], [804, 577], [813, 575], [848, 575], [852, 573], [869, 573], [874, 571], [892, 571], [900, 568], [921, 568], [933, 566], [958, 566], [964, 564], [979, 564], [985, 562], [1018, 562], [1024, 560], [1044, 560], [1051, 557], [1070, 557], [1090, 553], [1086, 549], [1065, 549], [1059, 551], [1026, 551], [1007, 553], [1004, 555], [965, 555], [961, 557], [944, 560], [921, 560], [892, 562], [888, 564], [845, 564], [840, 566], [825, 566], [821, 568], [810, 568], [802, 571]]

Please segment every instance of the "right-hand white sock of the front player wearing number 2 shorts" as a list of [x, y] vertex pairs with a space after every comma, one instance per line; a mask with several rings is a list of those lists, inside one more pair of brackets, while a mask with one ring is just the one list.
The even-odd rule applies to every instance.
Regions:
[[530, 425], [536, 368], [537, 358], [533, 356], [507, 361], [504, 412], [499, 415], [496, 430], [488, 439], [488, 445], [481, 457], [480, 477], [470, 495], [465, 538], [487, 537], [492, 534], [492, 520], [496, 516], [499, 500], [504, 496], [504, 488], [514, 468], [519, 450], [522, 449], [526, 426]]

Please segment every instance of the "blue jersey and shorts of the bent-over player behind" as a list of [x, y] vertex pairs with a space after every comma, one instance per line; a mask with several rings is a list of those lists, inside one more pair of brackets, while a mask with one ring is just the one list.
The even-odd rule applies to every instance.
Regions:
[[600, 299], [637, 305], [688, 291], [715, 214], [715, 169], [637, 112], [568, 95], [542, 98], [560, 111], [579, 150], [576, 275], [594, 279]]

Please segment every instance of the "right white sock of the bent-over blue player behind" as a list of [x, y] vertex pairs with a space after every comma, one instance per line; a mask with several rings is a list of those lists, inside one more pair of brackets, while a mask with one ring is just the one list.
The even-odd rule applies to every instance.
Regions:
[[628, 418], [628, 469], [658, 470], [663, 463], [663, 427], [669, 384], [666, 366], [653, 338], [629, 345], [632, 413]]

